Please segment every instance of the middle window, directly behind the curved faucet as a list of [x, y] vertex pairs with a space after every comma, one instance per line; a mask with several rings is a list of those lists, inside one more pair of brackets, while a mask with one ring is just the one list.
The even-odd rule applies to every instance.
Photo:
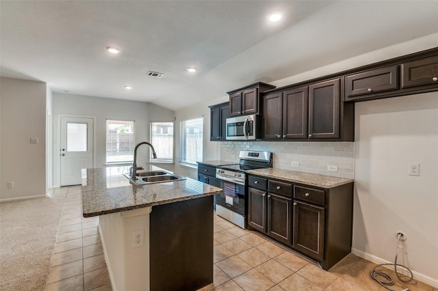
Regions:
[[151, 143], [157, 158], [152, 154], [149, 161], [153, 163], [173, 162], [173, 122], [151, 122]]

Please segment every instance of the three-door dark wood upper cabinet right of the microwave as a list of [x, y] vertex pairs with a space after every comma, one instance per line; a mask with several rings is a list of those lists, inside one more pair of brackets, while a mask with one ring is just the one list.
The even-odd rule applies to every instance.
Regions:
[[267, 92], [263, 139], [353, 141], [354, 105], [342, 102], [343, 80]]

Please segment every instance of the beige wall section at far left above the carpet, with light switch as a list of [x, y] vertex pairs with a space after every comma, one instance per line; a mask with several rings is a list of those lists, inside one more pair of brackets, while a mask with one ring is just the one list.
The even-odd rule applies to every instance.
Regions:
[[[46, 195], [46, 83], [1, 78], [1, 196]], [[38, 138], [31, 144], [30, 138]], [[14, 188], [8, 189], [8, 181]]]

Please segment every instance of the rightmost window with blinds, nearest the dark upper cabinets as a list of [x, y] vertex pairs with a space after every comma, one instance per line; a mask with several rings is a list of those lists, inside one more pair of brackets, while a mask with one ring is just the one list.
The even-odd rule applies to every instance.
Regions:
[[203, 161], [203, 117], [181, 122], [179, 163], [196, 166], [198, 161]]

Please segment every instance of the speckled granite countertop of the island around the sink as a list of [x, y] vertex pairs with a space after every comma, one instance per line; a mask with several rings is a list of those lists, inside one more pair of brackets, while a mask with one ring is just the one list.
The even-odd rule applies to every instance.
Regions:
[[[153, 165], [144, 167], [144, 171], [157, 170], [162, 168]], [[128, 172], [129, 167], [82, 169], [83, 217], [169, 204], [222, 192], [220, 188], [191, 178], [133, 185], [123, 176], [123, 173]]]

